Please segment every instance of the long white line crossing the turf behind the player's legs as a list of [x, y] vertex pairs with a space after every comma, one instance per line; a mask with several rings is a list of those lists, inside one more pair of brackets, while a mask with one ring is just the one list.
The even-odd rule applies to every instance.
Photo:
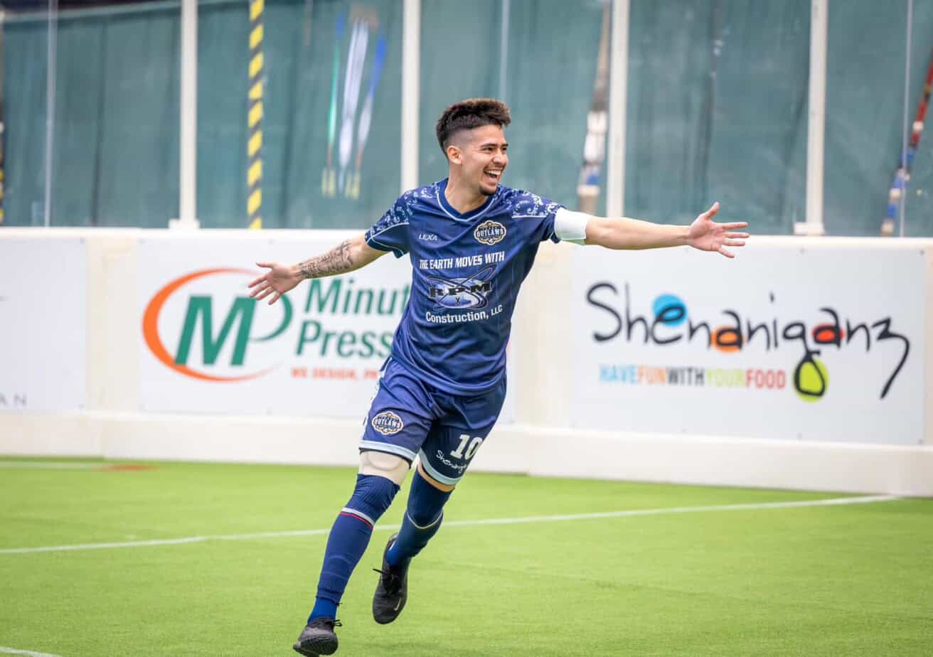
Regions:
[[[801, 507], [829, 507], [847, 504], [869, 504], [870, 502], [888, 502], [899, 499], [897, 496], [876, 495], [859, 497], [830, 497], [829, 499], [803, 499], [797, 502], [760, 502], [754, 504], [722, 504], [708, 507], [667, 507], [662, 509], [634, 509], [624, 511], [603, 511], [597, 513], [575, 513], [571, 515], [533, 515], [521, 518], [488, 518], [486, 520], [454, 520], [444, 523], [445, 527], [467, 527], [478, 524], [521, 524], [521, 523], [559, 523], [572, 520], [592, 520], [596, 518], [628, 518], [639, 515], [667, 515], [670, 513], [703, 513], [710, 511], [744, 511], [766, 509], [799, 509]], [[395, 525], [376, 526], [376, 531], [392, 531]], [[256, 534], [216, 534], [208, 536], [189, 536], [186, 538], [162, 538], [154, 540], [132, 540], [119, 543], [82, 543], [78, 545], [48, 545], [38, 548], [7, 548], [0, 554], [29, 554], [33, 552], [75, 552], [78, 550], [108, 550], [116, 548], [145, 548], [159, 545], [182, 545], [202, 543], [208, 540], [251, 540], [254, 538], [289, 538], [297, 536], [323, 536], [327, 529], [297, 529], [285, 532], [259, 532]]]

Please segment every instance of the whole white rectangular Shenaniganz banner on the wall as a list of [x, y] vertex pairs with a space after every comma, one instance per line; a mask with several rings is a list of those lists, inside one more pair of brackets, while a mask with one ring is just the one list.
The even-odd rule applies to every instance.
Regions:
[[578, 426], [923, 440], [922, 249], [613, 255], [574, 261]]

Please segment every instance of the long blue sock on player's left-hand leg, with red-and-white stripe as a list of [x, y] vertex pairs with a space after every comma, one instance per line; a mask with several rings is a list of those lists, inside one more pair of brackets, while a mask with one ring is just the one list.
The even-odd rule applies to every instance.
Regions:
[[336, 618], [347, 580], [369, 545], [372, 525], [389, 508], [397, 492], [397, 484], [384, 477], [356, 475], [353, 496], [337, 516], [327, 537], [317, 598], [308, 622], [321, 616]]

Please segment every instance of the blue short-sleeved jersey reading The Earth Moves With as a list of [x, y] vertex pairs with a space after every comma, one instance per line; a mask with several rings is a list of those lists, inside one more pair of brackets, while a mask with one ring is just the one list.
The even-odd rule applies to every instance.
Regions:
[[522, 281], [544, 240], [559, 242], [563, 207], [500, 185], [461, 215], [444, 198], [447, 180], [402, 194], [366, 232], [369, 246], [411, 258], [411, 297], [392, 358], [425, 384], [478, 395], [506, 371], [506, 343]]

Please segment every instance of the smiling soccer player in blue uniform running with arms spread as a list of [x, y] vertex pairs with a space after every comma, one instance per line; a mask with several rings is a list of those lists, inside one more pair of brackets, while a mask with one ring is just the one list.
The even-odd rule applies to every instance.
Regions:
[[690, 245], [732, 258], [745, 222], [715, 223], [718, 204], [689, 226], [591, 217], [501, 185], [508, 106], [488, 98], [451, 105], [437, 124], [449, 176], [402, 194], [365, 234], [296, 265], [268, 268], [250, 296], [274, 303], [301, 281], [353, 272], [387, 252], [411, 259], [411, 298], [380, 371], [359, 443], [350, 501], [327, 538], [317, 597], [294, 649], [337, 650], [334, 625], [347, 580], [411, 464], [408, 507], [383, 550], [372, 600], [376, 622], [396, 620], [411, 558], [437, 533], [444, 503], [489, 435], [506, 394], [506, 342], [519, 287], [545, 240], [643, 249]]

